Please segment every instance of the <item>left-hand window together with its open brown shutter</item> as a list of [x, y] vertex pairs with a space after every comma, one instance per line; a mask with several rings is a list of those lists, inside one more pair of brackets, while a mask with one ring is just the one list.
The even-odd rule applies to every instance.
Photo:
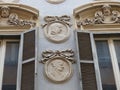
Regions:
[[21, 36], [0, 36], [0, 90], [35, 89], [37, 34], [32, 29]]

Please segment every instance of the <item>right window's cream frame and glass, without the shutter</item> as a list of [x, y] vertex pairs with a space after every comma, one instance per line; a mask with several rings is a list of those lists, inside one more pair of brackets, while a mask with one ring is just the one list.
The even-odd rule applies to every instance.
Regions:
[[96, 39], [103, 90], [118, 90], [120, 82], [120, 38]]

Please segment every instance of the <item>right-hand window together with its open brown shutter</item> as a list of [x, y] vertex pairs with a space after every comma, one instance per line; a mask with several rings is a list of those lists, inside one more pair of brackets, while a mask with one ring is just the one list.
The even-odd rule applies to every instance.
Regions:
[[120, 34], [75, 34], [82, 90], [120, 90]]

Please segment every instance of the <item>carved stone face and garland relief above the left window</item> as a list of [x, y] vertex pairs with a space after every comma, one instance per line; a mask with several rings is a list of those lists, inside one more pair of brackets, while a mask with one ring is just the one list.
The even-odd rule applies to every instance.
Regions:
[[12, 26], [25, 26], [30, 25], [34, 27], [36, 23], [33, 20], [24, 20], [21, 19], [17, 13], [11, 13], [10, 7], [2, 6], [1, 7], [1, 15], [0, 15], [0, 26], [4, 25], [12, 25]]

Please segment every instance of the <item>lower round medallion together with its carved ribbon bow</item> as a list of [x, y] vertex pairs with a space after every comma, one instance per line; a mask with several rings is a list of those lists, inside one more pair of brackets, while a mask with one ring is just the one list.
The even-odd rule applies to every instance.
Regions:
[[41, 63], [45, 64], [45, 75], [49, 80], [61, 83], [70, 79], [73, 74], [72, 63], [75, 63], [72, 50], [45, 51], [42, 56]]

